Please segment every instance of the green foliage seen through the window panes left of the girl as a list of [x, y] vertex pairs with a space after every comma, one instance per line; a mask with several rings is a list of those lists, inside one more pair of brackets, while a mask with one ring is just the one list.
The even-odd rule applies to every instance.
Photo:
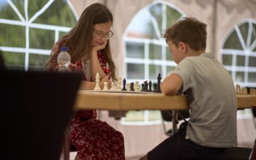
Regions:
[[[35, 13], [40, 11], [45, 4], [48, 3], [47, 0], [28, 0], [28, 11], [25, 11], [26, 8], [24, 0], [12, 0], [12, 3], [19, 11], [20, 15], [27, 22]], [[26, 12], [28, 12], [28, 19], [26, 19]], [[2, 24], [0, 22], [0, 46], [2, 47], [19, 47], [22, 48], [22, 51], [25, 51], [26, 39], [29, 40], [30, 49], [42, 49], [42, 50], [51, 50], [54, 45], [55, 39], [60, 38], [61, 35], [64, 35], [64, 32], [60, 32], [60, 36], [55, 38], [55, 30], [51, 29], [40, 29], [29, 26], [28, 23], [22, 22], [19, 19], [19, 16], [13, 8], [8, 4], [7, 1], [1, 1], [0, 3], [0, 19], [3, 20], [16, 20], [16, 24]], [[22, 25], [20, 25], [23, 23]], [[33, 24], [46, 24], [72, 27], [76, 24], [76, 18], [72, 10], [70, 10], [67, 1], [57, 0], [54, 1], [49, 8], [45, 10], [44, 13], [39, 15], [33, 22]], [[26, 25], [28, 25], [28, 33], [26, 34]], [[26, 37], [28, 35], [28, 37]], [[22, 65], [24, 66], [25, 61], [25, 52], [22, 54], [17, 54], [15, 52], [4, 52], [4, 61], [6, 65]], [[23, 55], [23, 56], [21, 56]], [[46, 64], [46, 59], [49, 56], [44, 54], [31, 54], [29, 53], [29, 67], [44, 67]]]

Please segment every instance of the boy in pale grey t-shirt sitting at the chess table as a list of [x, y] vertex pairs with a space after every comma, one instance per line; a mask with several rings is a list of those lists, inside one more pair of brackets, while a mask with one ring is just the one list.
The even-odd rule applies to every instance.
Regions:
[[141, 160], [196, 158], [237, 145], [234, 82], [221, 62], [205, 53], [206, 36], [206, 24], [194, 18], [179, 20], [164, 33], [177, 67], [161, 90], [186, 94], [190, 118]]

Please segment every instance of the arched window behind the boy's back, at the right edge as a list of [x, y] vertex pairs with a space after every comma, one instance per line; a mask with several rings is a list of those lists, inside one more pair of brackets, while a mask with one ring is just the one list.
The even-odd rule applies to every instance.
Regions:
[[[236, 84], [256, 87], [256, 20], [242, 20], [226, 37], [221, 47], [223, 65]], [[251, 109], [237, 113], [238, 116], [251, 114]]]

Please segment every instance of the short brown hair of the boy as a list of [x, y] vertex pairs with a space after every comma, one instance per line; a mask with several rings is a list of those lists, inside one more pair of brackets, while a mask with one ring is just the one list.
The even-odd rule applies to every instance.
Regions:
[[206, 26], [206, 24], [195, 18], [184, 17], [172, 27], [166, 29], [164, 38], [166, 38], [166, 42], [172, 40], [176, 47], [178, 47], [179, 42], [184, 42], [195, 51], [205, 50]]

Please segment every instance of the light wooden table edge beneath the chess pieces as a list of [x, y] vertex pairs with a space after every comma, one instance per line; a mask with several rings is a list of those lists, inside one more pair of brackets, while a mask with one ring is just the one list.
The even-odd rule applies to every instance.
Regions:
[[[256, 107], [256, 95], [237, 95], [237, 109]], [[128, 110], [186, 110], [184, 95], [168, 96], [152, 92], [93, 92], [79, 91], [75, 109]]]

